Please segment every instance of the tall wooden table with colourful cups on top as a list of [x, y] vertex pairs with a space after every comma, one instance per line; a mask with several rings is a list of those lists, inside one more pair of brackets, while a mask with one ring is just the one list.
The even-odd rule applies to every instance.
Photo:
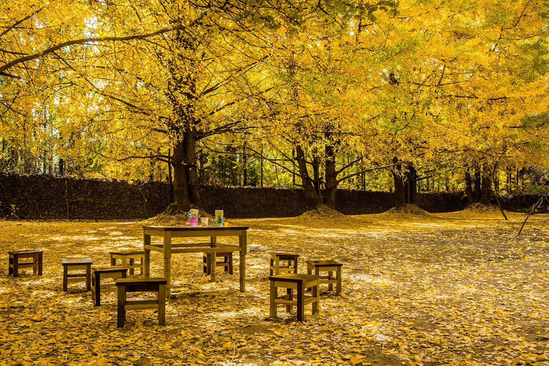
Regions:
[[[167, 281], [166, 296], [171, 293], [172, 253], [240, 252], [240, 292], [246, 290], [246, 251], [248, 227], [143, 227], [143, 275], [150, 277], [150, 251], [164, 254], [164, 278]], [[163, 238], [163, 244], [151, 244], [151, 237]], [[217, 244], [218, 236], [237, 236], [238, 245]], [[210, 238], [209, 242], [172, 244], [172, 238]], [[211, 261], [211, 280], [215, 281], [215, 260]]]

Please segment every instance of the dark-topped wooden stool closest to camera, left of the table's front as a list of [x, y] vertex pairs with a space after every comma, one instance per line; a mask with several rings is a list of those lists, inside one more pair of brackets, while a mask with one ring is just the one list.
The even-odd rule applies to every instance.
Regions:
[[[116, 280], [118, 288], [118, 316], [117, 328], [124, 328], [126, 310], [157, 309], [159, 325], [166, 325], [166, 283], [164, 278], [119, 278]], [[156, 300], [126, 300], [127, 293], [156, 293]]]

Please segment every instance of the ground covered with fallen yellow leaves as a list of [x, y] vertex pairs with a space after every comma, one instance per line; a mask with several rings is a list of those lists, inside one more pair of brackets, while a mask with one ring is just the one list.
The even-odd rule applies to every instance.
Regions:
[[[549, 365], [548, 215], [493, 213], [231, 220], [249, 225], [247, 292], [235, 274], [202, 275], [201, 254], [174, 255], [166, 323], [116, 297], [94, 307], [62, 258], [108, 264], [141, 247], [141, 222], [0, 221], [0, 365]], [[226, 240], [226, 239], [225, 239]], [[230, 239], [229, 239], [230, 241]], [[43, 249], [44, 275], [8, 277], [8, 250]], [[321, 313], [268, 319], [268, 253], [343, 266], [343, 294]], [[162, 260], [152, 253], [152, 274]], [[323, 291], [327, 288], [323, 288]]]

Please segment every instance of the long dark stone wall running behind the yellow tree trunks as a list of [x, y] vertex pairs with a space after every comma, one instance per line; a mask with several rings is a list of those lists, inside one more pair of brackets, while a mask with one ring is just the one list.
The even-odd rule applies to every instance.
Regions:
[[[202, 206], [227, 218], [287, 217], [305, 211], [302, 190], [206, 186]], [[502, 205], [526, 210], [537, 196], [502, 197]], [[457, 211], [467, 201], [460, 192], [419, 194], [419, 207], [430, 212]], [[148, 218], [168, 205], [166, 183], [130, 183], [68, 176], [0, 174], [0, 217], [23, 219], [123, 220]], [[393, 194], [338, 190], [336, 209], [344, 214], [376, 214], [394, 206]]]

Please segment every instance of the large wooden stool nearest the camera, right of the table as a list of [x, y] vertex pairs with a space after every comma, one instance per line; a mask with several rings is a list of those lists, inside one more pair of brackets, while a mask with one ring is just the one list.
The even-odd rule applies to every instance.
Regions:
[[[320, 310], [320, 296], [318, 291], [318, 286], [320, 286], [320, 276], [289, 273], [286, 275], [269, 276], [269, 279], [269, 316], [271, 318], [277, 317], [277, 307], [279, 304], [285, 305], [287, 312], [291, 312], [292, 306], [296, 306], [298, 321], [303, 321], [305, 305], [313, 304], [313, 314], [317, 314], [318, 310]], [[286, 295], [279, 297], [279, 287], [287, 289]], [[306, 288], [312, 288], [312, 296], [305, 296]], [[294, 293], [293, 290], [296, 290], [296, 293]]]

